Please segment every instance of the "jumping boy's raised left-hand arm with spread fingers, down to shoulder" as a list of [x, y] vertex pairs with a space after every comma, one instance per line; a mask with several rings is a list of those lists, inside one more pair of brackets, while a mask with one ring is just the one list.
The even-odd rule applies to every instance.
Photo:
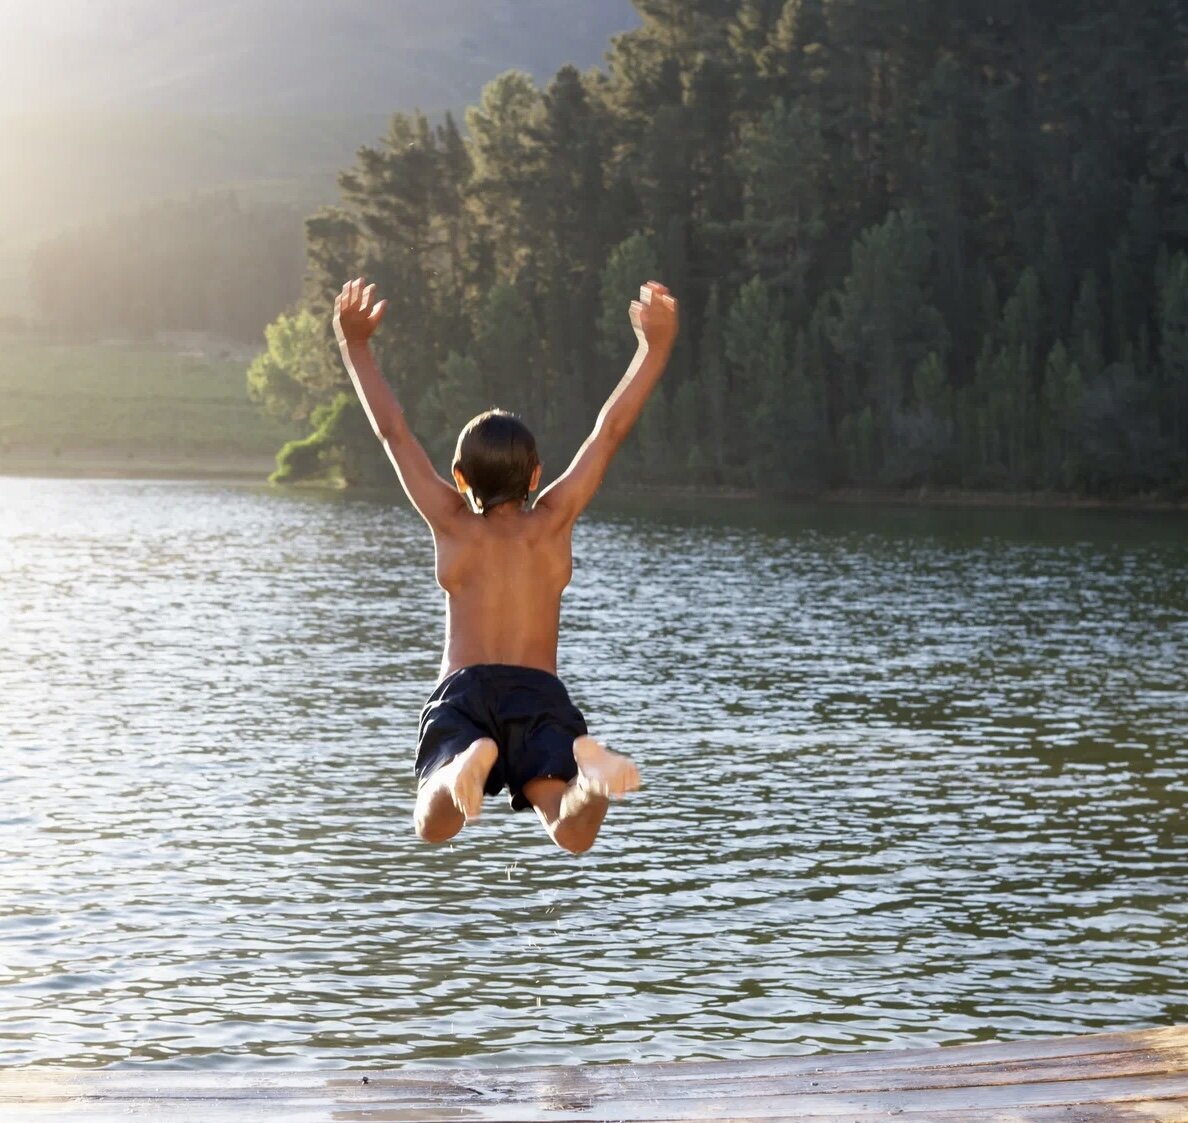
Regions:
[[400, 403], [375, 365], [368, 341], [386, 308], [387, 301], [375, 301], [375, 285], [368, 285], [361, 277], [348, 280], [334, 301], [334, 334], [367, 419], [384, 442], [405, 494], [436, 530], [465, 511], [466, 500], [434, 469], [429, 455], [412, 435]]

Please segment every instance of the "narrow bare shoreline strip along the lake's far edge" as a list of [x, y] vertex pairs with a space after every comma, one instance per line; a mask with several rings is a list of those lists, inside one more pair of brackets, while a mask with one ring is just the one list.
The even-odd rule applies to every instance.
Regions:
[[[0, 455], [0, 477], [46, 479], [122, 479], [122, 480], [227, 480], [267, 484], [276, 468], [274, 456], [195, 456], [187, 459], [133, 459], [95, 454], [78, 458]], [[273, 485], [296, 487], [298, 485]], [[301, 485], [309, 487], [311, 485]], [[327, 490], [341, 491], [330, 484]], [[349, 488], [348, 488], [349, 490]], [[672, 499], [688, 503], [758, 503], [767, 498], [757, 488], [745, 487], [607, 487], [601, 494], [612, 500]], [[843, 487], [820, 492], [801, 492], [773, 497], [778, 504], [820, 504], [823, 506], [904, 506], [904, 507], [1001, 507], [1032, 510], [1111, 510], [1111, 511], [1188, 511], [1188, 497], [1159, 496], [1076, 496], [1063, 492], [971, 491], [963, 488], [917, 487], [904, 491]]]

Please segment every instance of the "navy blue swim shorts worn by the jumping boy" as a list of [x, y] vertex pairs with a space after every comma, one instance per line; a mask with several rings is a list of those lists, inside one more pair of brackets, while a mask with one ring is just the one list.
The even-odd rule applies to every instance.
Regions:
[[480, 663], [447, 675], [429, 695], [417, 732], [417, 782], [423, 784], [443, 764], [480, 737], [499, 746], [486, 794], [505, 787], [511, 805], [523, 810], [530, 780], [577, 775], [574, 739], [587, 732], [586, 719], [569, 700], [556, 675], [535, 667]]

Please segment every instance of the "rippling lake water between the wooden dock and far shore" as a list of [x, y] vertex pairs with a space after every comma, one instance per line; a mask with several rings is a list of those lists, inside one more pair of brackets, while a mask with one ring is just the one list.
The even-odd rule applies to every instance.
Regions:
[[1188, 1022], [1188, 518], [576, 535], [595, 848], [411, 829], [394, 497], [0, 479], [0, 1065], [741, 1058]]

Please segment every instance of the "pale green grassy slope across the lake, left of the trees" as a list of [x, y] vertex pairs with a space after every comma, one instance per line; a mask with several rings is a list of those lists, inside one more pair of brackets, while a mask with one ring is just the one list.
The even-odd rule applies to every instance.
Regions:
[[293, 436], [247, 400], [245, 364], [0, 337], [0, 472], [264, 477]]

